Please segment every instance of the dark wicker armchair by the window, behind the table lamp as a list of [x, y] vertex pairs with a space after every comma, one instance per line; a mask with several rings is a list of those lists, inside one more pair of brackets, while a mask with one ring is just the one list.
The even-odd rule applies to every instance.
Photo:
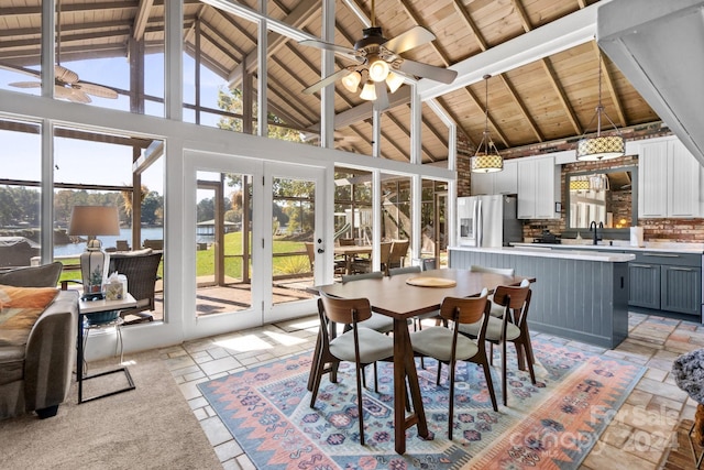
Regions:
[[154, 289], [158, 276], [156, 271], [162, 261], [161, 252], [121, 254], [116, 253], [110, 256], [110, 272], [117, 271], [128, 277], [128, 292], [136, 300], [136, 307], [120, 310], [120, 316], [132, 315], [136, 319], [127, 320], [125, 325], [153, 321], [154, 316], [150, 313], [154, 310]]

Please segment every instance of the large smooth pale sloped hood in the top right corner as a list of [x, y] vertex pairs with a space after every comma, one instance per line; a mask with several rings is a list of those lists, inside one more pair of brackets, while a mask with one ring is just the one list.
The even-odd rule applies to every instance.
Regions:
[[596, 41], [704, 165], [704, 0], [613, 0]]

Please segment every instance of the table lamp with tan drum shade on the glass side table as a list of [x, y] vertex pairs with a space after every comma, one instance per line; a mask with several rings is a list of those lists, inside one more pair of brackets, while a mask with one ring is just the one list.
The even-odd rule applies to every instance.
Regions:
[[80, 254], [80, 276], [84, 300], [105, 298], [105, 285], [110, 255], [102, 251], [98, 236], [120, 234], [118, 208], [106, 206], [74, 206], [70, 212], [70, 236], [87, 236], [86, 251]]

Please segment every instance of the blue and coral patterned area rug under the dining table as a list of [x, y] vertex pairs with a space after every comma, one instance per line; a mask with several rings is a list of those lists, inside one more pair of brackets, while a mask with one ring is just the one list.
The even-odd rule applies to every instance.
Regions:
[[[458, 364], [452, 441], [447, 375], [437, 386], [436, 362], [426, 359], [419, 381], [432, 439], [409, 428], [404, 456], [394, 451], [391, 363], [378, 364], [380, 393], [367, 368], [365, 446], [351, 364], [341, 364], [337, 384], [323, 375], [315, 409], [306, 390], [310, 352], [198, 386], [258, 469], [575, 469], [645, 368], [547, 340], [534, 339], [534, 349], [536, 385], [517, 370], [515, 356], [508, 358], [508, 407], [501, 406], [501, 370], [493, 368], [498, 413], [480, 367]], [[498, 365], [497, 348], [495, 354]]]

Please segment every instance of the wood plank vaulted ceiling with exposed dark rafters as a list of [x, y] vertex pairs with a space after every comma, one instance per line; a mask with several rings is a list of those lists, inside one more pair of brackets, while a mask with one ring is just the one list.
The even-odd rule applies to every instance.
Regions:
[[[240, 2], [257, 10], [257, 0]], [[321, 1], [271, 0], [267, 14], [315, 36], [321, 35]], [[535, 29], [597, 3], [593, 0], [376, 0], [376, 22], [385, 37], [414, 25], [437, 39], [403, 54], [404, 57], [448, 67], [496, 47]], [[352, 47], [365, 25], [355, 7], [369, 19], [371, 1], [336, 2], [336, 43]], [[145, 51], [163, 47], [163, 0], [62, 0], [62, 58], [128, 56], [130, 37], [144, 37]], [[0, 0], [0, 64], [36, 66], [41, 28], [40, 0]], [[196, 34], [198, 32], [198, 34]], [[185, 0], [186, 51], [194, 55], [199, 41], [201, 63], [223, 80], [237, 77], [246, 64], [256, 75], [256, 24], [209, 4]], [[270, 34], [268, 106], [288, 125], [315, 130], [320, 124], [320, 94], [301, 90], [320, 79], [321, 53], [296, 41]], [[490, 131], [498, 146], [515, 149], [554, 140], [574, 139], [594, 131], [598, 101], [598, 48], [595, 41], [513, 68], [488, 81]], [[659, 118], [614, 64], [603, 56], [602, 101], [620, 127], [657, 122]], [[253, 59], [254, 58], [254, 59]], [[350, 65], [336, 57], [336, 70]], [[90, 77], [99, 83], [99, 77]], [[382, 156], [409, 161], [410, 103], [402, 87], [389, 96], [392, 107], [382, 117]], [[336, 86], [336, 114], [365, 103], [359, 94]], [[405, 96], [408, 96], [406, 92]], [[436, 102], [458, 124], [458, 133], [477, 144], [484, 129], [485, 84], [440, 95]], [[343, 114], [344, 116], [344, 114]], [[336, 129], [336, 145], [351, 152], [372, 153], [372, 116]], [[590, 129], [585, 129], [586, 127]], [[448, 129], [437, 113], [422, 105], [424, 163], [447, 160]], [[604, 125], [603, 125], [604, 129]]]

